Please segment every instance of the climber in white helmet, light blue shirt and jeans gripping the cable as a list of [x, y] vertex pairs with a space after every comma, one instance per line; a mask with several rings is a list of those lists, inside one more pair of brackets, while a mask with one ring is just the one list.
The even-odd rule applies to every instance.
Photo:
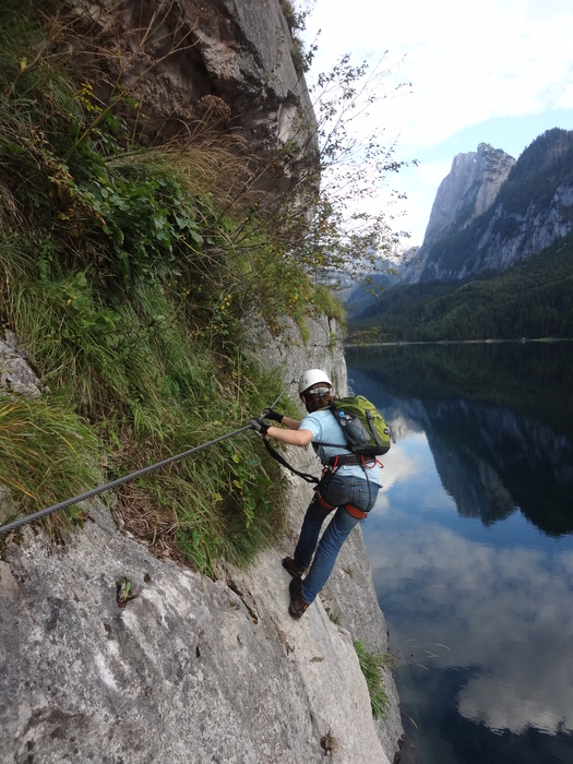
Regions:
[[[295, 553], [283, 560], [283, 568], [291, 575], [288, 611], [297, 619], [329, 580], [341, 547], [372, 509], [382, 485], [380, 463], [375, 458], [365, 462], [345, 447], [342, 427], [329, 409], [334, 401], [329, 375], [321, 369], [306, 371], [300, 377], [298, 392], [308, 411], [301, 421], [272, 408], [265, 409], [263, 417], [249, 420], [263, 438], [275, 438], [288, 445], [305, 446], [312, 441], [341, 444], [313, 446], [323, 465], [322, 478], [305, 514]], [[287, 429], [270, 426], [263, 419]], [[334, 515], [319, 542], [322, 524], [331, 512]]]

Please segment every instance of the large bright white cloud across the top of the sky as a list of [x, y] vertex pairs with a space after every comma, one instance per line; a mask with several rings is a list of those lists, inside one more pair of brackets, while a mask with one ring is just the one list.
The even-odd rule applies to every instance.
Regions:
[[484, 0], [468, 13], [457, 0], [380, 3], [318, 0], [319, 64], [350, 51], [389, 63], [406, 56], [395, 81], [413, 95], [384, 102], [403, 141], [428, 146], [467, 124], [498, 116], [573, 107], [573, 7]]

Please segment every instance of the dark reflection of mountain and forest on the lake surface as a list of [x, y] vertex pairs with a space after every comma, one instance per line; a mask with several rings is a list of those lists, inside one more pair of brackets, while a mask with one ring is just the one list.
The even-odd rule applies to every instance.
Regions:
[[[550, 350], [556, 348], [546, 346], [527, 350], [501, 346], [505, 358], [499, 346], [462, 346], [454, 359], [450, 347], [384, 348], [383, 357], [369, 353], [368, 365], [373, 368], [361, 366], [360, 371], [363, 386], [374, 389], [396, 440], [407, 432], [427, 433], [442, 484], [461, 514], [489, 524], [520, 509], [545, 533], [559, 535], [573, 532], [573, 367], [572, 348], [565, 347], [569, 363], [549, 387], [544, 385], [547, 368], [554, 366], [548, 360]], [[418, 359], [413, 377], [405, 350], [415, 357], [431, 353], [427, 359], [431, 362], [420, 366]], [[561, 346], [559, 358], [560, 350]], [[532, 367], [524, 381], [526, 351]], [[356, 351], [354, 357], [349, 354], [349, 366], [356, 360]], [[449, 373], [437, 374], [440, 361], [447, 361]], [[393, 394], [396, 386], [406, 395]], [[514, 391], [511, 401], [509, 389]]]

